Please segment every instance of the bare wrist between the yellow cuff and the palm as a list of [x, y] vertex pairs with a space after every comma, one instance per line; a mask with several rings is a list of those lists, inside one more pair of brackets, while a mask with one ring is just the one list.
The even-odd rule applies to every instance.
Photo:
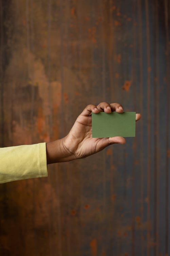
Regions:
[[74, 160], [74, 155], [66, 148], [65, 138], [46, 143], [47, 165]]

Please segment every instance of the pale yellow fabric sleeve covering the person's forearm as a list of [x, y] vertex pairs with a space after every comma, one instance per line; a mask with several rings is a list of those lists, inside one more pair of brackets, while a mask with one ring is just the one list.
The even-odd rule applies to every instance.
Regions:
[[46, 142], [0, 148], [0, 183], [47, 177]]

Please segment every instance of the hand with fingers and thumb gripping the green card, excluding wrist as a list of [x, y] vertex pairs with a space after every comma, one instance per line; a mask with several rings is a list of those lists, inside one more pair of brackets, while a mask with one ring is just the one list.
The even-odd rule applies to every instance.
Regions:
[[[111, 113], [112, 111], [123, 113], [123, 108], [118, 103], [108, 104], [106, 102], [102, 102], [98, 106], [86, 106], [68, 135], [62, 139], [63, 148], [69, 156], [68, 161], [85, 158], [114, 143], [125, 144], [126, 141], [123, 137], [92, 138], [91, 112], [97, 114], [99, 112]], [[136, 121], [140, 118], [141, 115], [136, 114]]]

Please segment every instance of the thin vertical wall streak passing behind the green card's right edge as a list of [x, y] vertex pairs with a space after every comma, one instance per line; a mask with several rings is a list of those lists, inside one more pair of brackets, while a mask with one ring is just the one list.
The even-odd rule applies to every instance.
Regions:
[[[136, 110], [136, 1], [133, 1], [133, 102]], [[133, 142], [133, 183], [132, 183], [132, 256], [135, 256], [135, 159], [136, 159], [136, 140]]]

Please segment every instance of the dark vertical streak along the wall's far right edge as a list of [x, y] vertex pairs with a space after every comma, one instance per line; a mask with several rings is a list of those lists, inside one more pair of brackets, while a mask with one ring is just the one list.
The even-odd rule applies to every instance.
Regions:
[[168, 174], [168, 167], [169, 167], [169, 157], [168, 157], [168, 147], [169, 147], [169, 102], [170, 102], [170, 84], [169, 84], [169, 70], [170, 70], [170, 65], [169, 65], [169, 27], [168, 27], [168, 1], [164, 1], [164, 8], [165, 8], [165, 30], [166, 30], [166, 81], [167, 81], [167, 139], [166, 139], [166, 241], [165, 241], [165, 249], [166, 249], [166, 254], [168, 255], [168, 238], [169, 238], [169, 217], [168, 217], [168, 201], [169, 201], [169, 195], [168, 195], [168, 179], [169, 179], [169, 174]]

